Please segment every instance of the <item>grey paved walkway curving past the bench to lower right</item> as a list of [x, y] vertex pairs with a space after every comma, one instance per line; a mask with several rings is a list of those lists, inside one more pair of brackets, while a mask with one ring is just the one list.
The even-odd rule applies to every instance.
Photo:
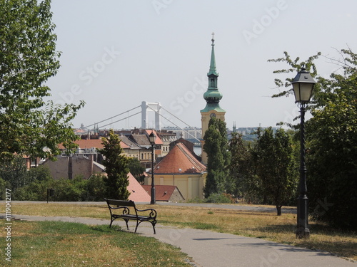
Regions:
[[[62, 216], [12, 215], [16, 219], [29, 221], [69, 221], [81, 224], [107, 224], [109, 220], [86, 219]], [[124, 221], [114, 224], [123, 226]], [[129, 222], [129, 231], [134, 231], [135, 223]], [[197, 229], [178, 229], [156, 224], [156, 235], [151, 224], [145, 222], [137, 231], [145, 236], [178, 246], [193, 258], [193, 266], [202, 267], [357, 267], [356, 263], [332, 256], [323, 251], [311, 251], [277, 244], [263, 239], [254, 239], [233, 234], [221, 234]]]

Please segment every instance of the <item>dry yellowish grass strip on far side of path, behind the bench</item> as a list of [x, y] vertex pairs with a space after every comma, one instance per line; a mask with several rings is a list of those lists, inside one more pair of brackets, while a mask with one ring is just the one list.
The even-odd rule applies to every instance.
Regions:
[[[139, 209], [153, 206], [141, 206]], [[310, 221], [310, 239], [296, 239], [296, 214], [276, 216], [276, 212], [236, 211], [231, 209], [202, 208], [196, 206], [155, 205], [158, 223], [196, 229], [208, 229], [241, 236], [251, 236], [281, 244], [290, 244], [328, 251], [344, 258], [357, 260], [355, 232], [338, 231], [324, 224]], [[82, 216], [109, 219], [106, 205], [14, 203], [13, 214], [46, 216]]]

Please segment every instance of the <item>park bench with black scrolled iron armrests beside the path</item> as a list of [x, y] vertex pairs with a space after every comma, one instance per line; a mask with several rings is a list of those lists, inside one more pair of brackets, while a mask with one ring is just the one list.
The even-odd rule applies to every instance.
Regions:
[[[115, 219], [121, 218], [124, 219], [126, 223], [126, 229], [129, 230], [128, 226], [128, 221], [134, 220], [136, 221], [136, 228], [135, 228], [135, 233], [136, 230], [138, 229], [139, 224], [141, 224], [143, 221], [149, 221], [151, 225], [153, 226], [154, 229], [154, 234], [156, 234], [155, 231], [155, 224], [156, 224], [156, 210], [155, 209], [136, 209], [134, 201], [126, 201], [126, 200], [116, 200], [116, 199], [104, 199], [106, 201], [106, 204], [108, 204], [109, 211], [111, 213], [111, 224], [113, 224], [113, 221]], [[132, 209], [129, 209], [129, 207], [132, 207]], [[119, 210], [119, 213], [116, 212]], [[131, 211], [135, 211], [132, 212]], [[148, 214], [147, 216], [142, 215], [142, 212], [144, 211], [149, 211], [146, 212]], [[111, 227], [111, 224], [109, 227]]]

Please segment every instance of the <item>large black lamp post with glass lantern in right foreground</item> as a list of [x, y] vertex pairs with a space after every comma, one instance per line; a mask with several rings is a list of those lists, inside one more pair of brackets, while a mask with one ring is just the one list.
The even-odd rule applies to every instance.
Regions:
[[301, 122], [300, 122], [300, 180], [298, 184], [298, 206], [297, 206], [297, 230], [296, 239], [308, 239], [310, 230], [308, 230], [308, 197], [306, 186], [306, 164], [305, 164], [305, 111], [306, 104], [310, 101], [313, 85], [316, 81], [313, 80], [306, 68], [301, 68], [291, 84], [293, 85], [293, 93], [295, 95], [295, 103], [300, 105]]

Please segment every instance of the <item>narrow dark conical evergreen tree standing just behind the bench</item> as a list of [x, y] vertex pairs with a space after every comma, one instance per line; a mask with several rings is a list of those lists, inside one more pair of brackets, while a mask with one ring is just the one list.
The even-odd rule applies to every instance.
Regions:
[[127, 200], [130, 193], [128, 158], [121, 155], [123, 149], [120, 146], [119, 136], [109, 131], [109, 137], [102, 138], [104, 148], [100, 150], [104, 156], [103, 165], [106, 167], [106, 186], [108, 187], [108, 198]]

